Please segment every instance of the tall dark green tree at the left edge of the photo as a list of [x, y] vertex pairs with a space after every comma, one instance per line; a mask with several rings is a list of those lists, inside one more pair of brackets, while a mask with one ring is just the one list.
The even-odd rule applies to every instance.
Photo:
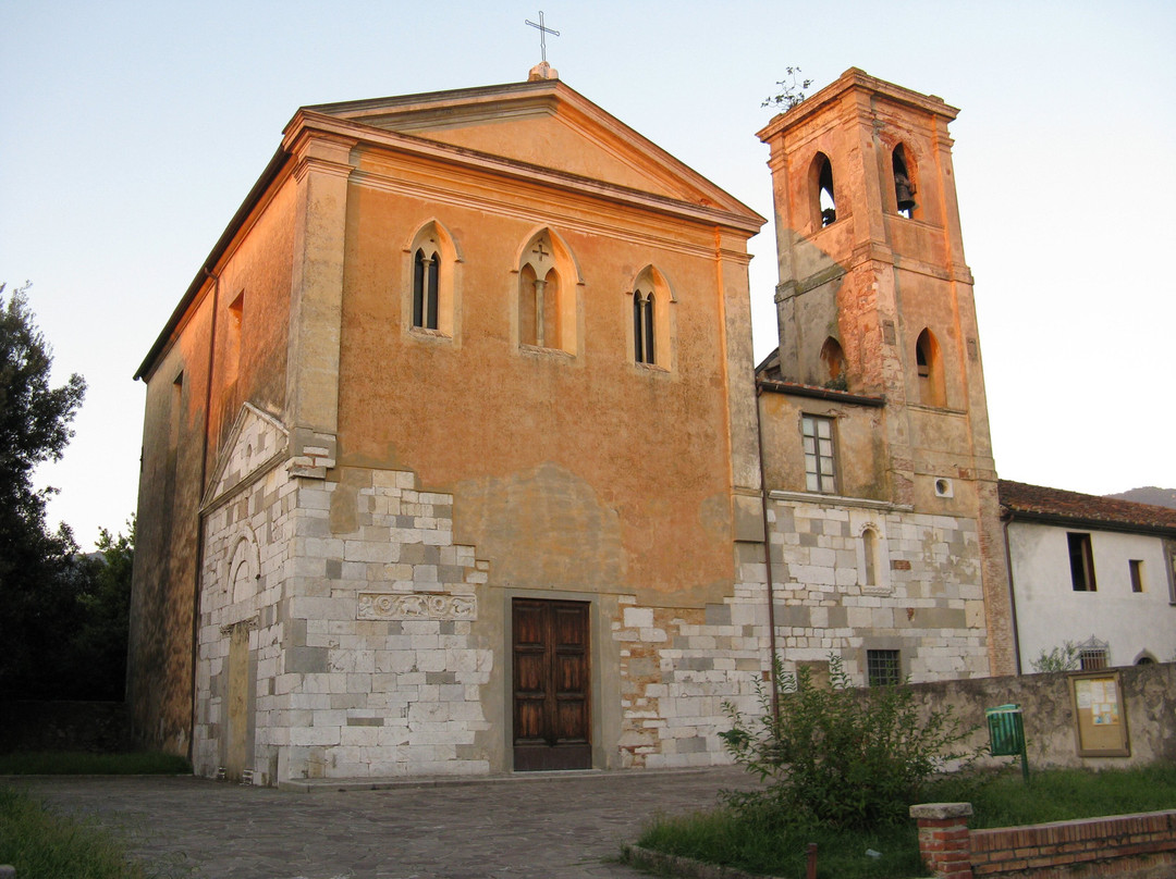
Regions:
[[28, 308], [28, 284], [0, 284], [0, 696], [45, 698], [68, 678], [62, 642], [76, 624], [85, 576], [68, 526], [49, 531], [53, 489], [33, 469], [61, 458], [86, 394], [79, 375], [53, 388], [53, 354]]

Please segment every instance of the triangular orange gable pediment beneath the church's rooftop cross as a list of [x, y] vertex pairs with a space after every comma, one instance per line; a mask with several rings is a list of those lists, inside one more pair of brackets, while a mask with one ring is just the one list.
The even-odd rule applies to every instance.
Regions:
[[766, 222], [559, 80], [327, 103], [303, 110]]

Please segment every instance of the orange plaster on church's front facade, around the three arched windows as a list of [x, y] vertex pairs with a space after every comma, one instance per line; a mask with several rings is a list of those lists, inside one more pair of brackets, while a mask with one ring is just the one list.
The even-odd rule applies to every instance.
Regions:
[[[508, 215], [353, 186], [348, 210], [341, 465], [410, 469], [422, 489], [453, 491], [454, 537], [489, 559], [492, 584], [653, 590], [682, 604], [729, 588], [722, 314], [703, 249], [713, 230], [673, 230], [694, 254], [589, 234], [574, 224], [607, 223], [607, 209], [549, 193]], [[573, 221], [539, 220], [553, 215]], [[454, 341], [409, 334], [401, 314], [403, 250], [433, 219], [463, 257]], [[575, 358], [512, 342], [513, 269], [548, 222], [583, 273]], [[653, 217], [647, 229], [670, 234]], [[677, 297], [674, 373], [636, 367], [628, 349], [626, 290], [649, 263]]]

